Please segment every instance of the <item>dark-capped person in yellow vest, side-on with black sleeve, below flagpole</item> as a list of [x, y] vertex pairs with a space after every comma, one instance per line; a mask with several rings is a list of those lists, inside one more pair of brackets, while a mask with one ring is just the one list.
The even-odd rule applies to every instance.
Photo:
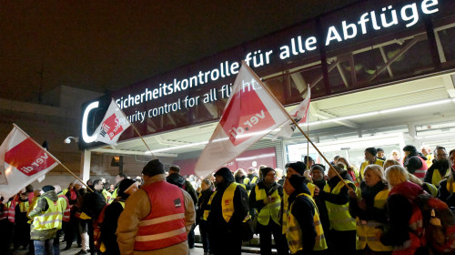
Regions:
[[305, 178], [291, 175], [285, 180], [288, 194], [286, 239], [291, 254], [324, 254], [328, 249], [319, 210], [309, 194]]

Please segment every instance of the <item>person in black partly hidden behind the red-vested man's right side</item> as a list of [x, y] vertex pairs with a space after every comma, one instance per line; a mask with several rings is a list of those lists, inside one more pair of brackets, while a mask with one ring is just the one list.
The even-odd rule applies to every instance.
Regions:
[[[172, 183], [188, 192], [195, 203], [195, 207], [197, 206], [197, 193], [196, 190], [191, 185], [191, 182], [187, 181], [180, 175], [180, 168], [178, 166], [170, 166], [168, 170], [169, 175], [167, 176], [166, 180], [168, 183]], [[197, 210], [197, 208], [195, 208]], [[196, 224], [193, 225], [191, 230], [188, 233], [188, 248], [193, 249], [195, 247], [195, 228]]]

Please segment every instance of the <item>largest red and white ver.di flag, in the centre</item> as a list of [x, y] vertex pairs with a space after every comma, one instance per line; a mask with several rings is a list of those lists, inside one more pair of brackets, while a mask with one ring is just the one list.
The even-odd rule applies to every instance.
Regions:
[[197, 176], [223, 167], [287, 119], [278, 100], [243, 63], [217, 128], [197, 159]]

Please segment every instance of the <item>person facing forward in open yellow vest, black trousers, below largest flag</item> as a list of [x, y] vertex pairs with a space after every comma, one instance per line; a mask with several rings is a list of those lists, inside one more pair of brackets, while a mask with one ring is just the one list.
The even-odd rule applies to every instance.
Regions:
[[258, 210], [258, 233], [260, 254], [272, 254], [272, 234], [278, 254], [288, 254], [284, 235], [279, 223], [279, 209], [283, 188], [275, 181], [273, 168], [260, 169], [263, 179], [249, 195], [249, 207]]

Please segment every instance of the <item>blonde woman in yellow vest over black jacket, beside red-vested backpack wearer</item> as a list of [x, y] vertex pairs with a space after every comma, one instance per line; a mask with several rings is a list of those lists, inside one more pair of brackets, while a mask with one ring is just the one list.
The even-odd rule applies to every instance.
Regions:
[[383, 245], [379, 240], [387, 223], [386, 203], [389, 197], [384, 169], [378, 165], [367, 166], [360, 190], [360, 196], [349, 191], [349, 212], [357, 223], [358, 254], [390, 254], [392, 247]]

